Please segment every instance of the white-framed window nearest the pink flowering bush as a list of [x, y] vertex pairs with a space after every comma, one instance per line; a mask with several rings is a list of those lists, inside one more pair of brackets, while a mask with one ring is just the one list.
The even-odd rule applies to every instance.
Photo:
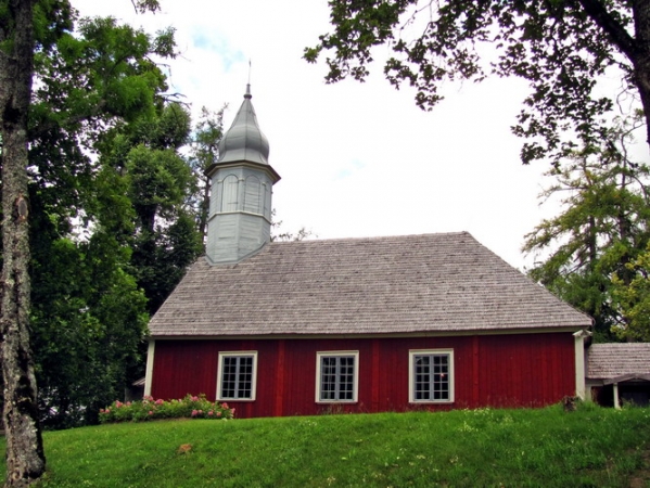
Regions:
[[217, 400], [255, 400], [257, 351], [219, 352]]

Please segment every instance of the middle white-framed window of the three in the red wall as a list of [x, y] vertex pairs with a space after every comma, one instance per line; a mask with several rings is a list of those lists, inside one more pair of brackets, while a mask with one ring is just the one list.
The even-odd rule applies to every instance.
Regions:
[[358, 382], [358, 350], [316, 354], [316, 402], [355, 402]]

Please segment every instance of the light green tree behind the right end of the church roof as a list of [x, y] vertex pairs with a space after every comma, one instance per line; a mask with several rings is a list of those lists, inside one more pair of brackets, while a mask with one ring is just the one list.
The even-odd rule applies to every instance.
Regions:
[[610, 149], [582, 151], [549, 174], [562, 194], [562, 211], [526, 235], [524, 252], [548, 253], [530, 274], [595, 319], [599, 339], [627, 335], [620, 296], [637, 282], [638, 261], [650, 243], [650, 168], [628, 159], [624, 140], [633, 127], [610, 132]]

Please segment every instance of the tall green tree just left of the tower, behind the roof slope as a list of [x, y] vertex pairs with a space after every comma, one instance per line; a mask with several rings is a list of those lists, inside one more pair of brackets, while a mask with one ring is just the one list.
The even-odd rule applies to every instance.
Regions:
[[117, 126], [102, 144], [102, 171], [124, 178], [133, 207], [130, 270], [148, 298], [151, 314], [161, 307], [202, 252], [192, 206], [196, 177], [179, 150], [190, 137], [190, 114], [163, 104], [130, 124]]

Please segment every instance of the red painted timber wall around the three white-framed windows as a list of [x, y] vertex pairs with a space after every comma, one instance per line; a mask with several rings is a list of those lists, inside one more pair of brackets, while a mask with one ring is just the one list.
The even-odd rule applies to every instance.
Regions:
[[[454, 349], [455, 401], [408, 402], [409, 349]], [[257, 351], [255, 401], [229, 401], [238, 418], [479, 407], [541, 407], [575, 394], [571, 333], [462, 337], [157, 341], [152, 396], [214, 400], [219, 351]], [[358, 402], [315, 401], [316, 352], [359, 351]]]

